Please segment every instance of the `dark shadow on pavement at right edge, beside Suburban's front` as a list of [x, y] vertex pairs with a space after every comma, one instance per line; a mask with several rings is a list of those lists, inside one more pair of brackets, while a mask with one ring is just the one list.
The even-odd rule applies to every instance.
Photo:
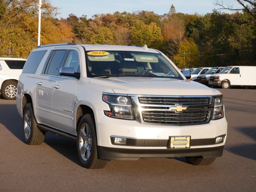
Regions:
[[[237, 154], [239, 156], [243, 156], [246, 158], [250, 158], [252, 160], [256, 160], [256, 127], [246, 127], [246, 128], [240, 128], [238, 129], [242, 134], [245, 134], [246, 136], [252, 138], [254, 140], [254, 143], [248, 144], [248, 142], [245, 140], [246, 144], [240, 144], [235, 145], [232, 147], [226, 148], [226, 150]], [[241, 141], [239, 141], [241, 142]]]

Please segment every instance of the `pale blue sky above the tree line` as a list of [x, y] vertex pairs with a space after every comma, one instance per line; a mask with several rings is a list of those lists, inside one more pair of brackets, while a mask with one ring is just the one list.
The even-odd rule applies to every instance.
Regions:
[[[222, 0], [238, 6], [236, 0]], [[206, 14], [212, 12], [216, 6], [215, 0], [51, 0], [52, 4], [60, 8], [60, 15], [66, 18], [73, 13], [76, 16], [119, 12], [136, 12], [141, 10], [153, 11], [156, 14], [168, 13], [173, 4], [177, 12], [188, 14]]]

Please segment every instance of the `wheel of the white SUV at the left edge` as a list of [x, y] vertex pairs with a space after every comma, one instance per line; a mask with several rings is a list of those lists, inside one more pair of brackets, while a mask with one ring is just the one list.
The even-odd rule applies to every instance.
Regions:
[[2, 86], [2, 95], [7, 100], [16, 100], [18, 92], [18, 83], [14, 80], [5, 82]]

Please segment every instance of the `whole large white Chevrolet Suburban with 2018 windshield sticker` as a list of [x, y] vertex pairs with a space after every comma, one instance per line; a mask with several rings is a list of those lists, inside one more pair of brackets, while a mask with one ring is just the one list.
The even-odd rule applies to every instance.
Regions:
[[24, 140], [76, 140], [86, 168], [139, 158], [211, 164], [227, 136], [222, 94], [184, 74], [147, 46], [39, 46], [18, 82]]

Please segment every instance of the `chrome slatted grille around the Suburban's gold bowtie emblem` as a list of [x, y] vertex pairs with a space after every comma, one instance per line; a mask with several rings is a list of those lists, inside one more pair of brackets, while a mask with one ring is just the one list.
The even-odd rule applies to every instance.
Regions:
[[[154, 124], [204, 124], [210, 121], [212, 114], [212, 97], [193, 96], [139, 96], [136, 104], [142, 123]], [[183, 106], [186, 110], [172, 110], [173, 107]]]

